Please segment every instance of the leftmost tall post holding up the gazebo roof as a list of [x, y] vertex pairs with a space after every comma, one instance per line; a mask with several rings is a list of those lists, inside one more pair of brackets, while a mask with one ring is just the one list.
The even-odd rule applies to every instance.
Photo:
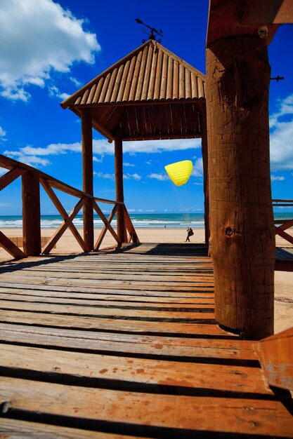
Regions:
[[[91, 128], [91, 109], [82, 109], [82, 168], [83, 191], [93, 195], [93, 133]], [[84, 243], [93, 250], [93, 202], [84, 202]]]

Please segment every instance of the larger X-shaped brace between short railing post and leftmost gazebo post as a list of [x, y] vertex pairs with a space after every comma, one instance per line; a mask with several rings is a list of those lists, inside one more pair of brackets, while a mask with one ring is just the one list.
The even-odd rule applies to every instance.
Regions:
[[65, 211], [65, 209], [63, 208], [63, 205], [60, 203], [58, 196], [56, 196], [55, 192], [53, 191], [51, 186], [48, 184], [48, 182], [46, 182], [46, 180], [43, 180], [42, 178], [40, 179], [40, 181], [41, 181], [41, 185], [44, 187], [46, 193], [53, 201], [53, 204], [55, 205], [56, 209], [58, 210], [58, 212], [60, 213], [60, 215], [64, 219], [63, 224], [60, 225], [60, 227], [58, 228], [56, 233], [52, 236], [51, 240], [48, 242], [48, 244], [44, 248], [43, 253], [46, 254], [46, 253], [51, 251], [51, 249], [56, 244], [56, 242], [60, 239], [60, 237], [63, 235], [63, 233], [65, 232], [67, 227], [69, 227], [70, 230], [72, 231], [74, 238], [77, 240], [77, 242], [81, 246], [82, 250], [84, 250], [84, 252], [89, 252], [89, 249], [87, 248], [86, 243], [84, 243], [82, 236], [80, 236], [79, 231], [77, 231], [77, 228], [72, 223], [72, 220], [74, 219], [74, 217], [77, 215], [79, 210], [84, 205], [84, 197], [82, 197], [79, 200], [79, 202], [74, 207], [72, 212], [70, 212], [70, 215], [68, 215], [67, 212]]

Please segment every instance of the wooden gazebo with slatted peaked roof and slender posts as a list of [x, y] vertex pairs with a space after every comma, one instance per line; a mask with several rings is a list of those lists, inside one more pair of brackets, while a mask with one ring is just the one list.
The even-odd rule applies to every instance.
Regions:
[[[82, 119], [84, 191], [93, 193], [92, 130], [115, 141], [116, 199], [124, 201], [122, 142], [202, 137], [205, 229], [208, 240], [207, 128], [204, 75], [150, 39], [63, 101]], [[84, 238], [93, 249], [93, 209], [86, 207]], [[124, 216], [117, 235], [124, 242]]]

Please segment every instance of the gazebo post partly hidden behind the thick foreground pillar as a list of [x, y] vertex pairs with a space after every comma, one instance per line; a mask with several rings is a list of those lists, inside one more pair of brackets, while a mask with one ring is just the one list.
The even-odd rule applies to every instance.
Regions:
[[209, 175], [207, 165], [207, 114], [206, 106], [202, 106], [200, 116], [200, 130], [202, 132], [202, 167], [204, 172], [204, 238], [205, 243], [209, 245]]

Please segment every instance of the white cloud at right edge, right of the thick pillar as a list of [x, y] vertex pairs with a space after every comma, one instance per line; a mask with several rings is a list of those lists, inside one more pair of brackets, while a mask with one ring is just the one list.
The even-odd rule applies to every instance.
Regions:
[[[280, 111], [270, 118], [271, 169], [293, 169], [293, 94], [279, 102]], [[286, 121], [284, 121], [287, 119]]]

